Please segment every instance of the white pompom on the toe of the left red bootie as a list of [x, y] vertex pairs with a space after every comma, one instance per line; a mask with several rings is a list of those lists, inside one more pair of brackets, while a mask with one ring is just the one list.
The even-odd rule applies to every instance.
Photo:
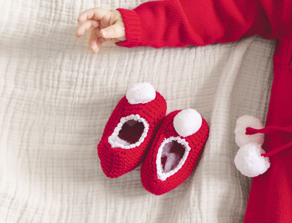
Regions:
[[148, 82], [136, 83], [127, 89], [126, 98], [130, 104], [144, 104], [154, 100], [156, 92]]

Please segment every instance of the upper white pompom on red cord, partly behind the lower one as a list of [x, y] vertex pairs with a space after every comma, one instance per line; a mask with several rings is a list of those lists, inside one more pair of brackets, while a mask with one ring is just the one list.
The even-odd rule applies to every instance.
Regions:
[[258, 144], [264, 143], [265, 134], [263, 133], [256, 133], [253, 135], [246, 135], [246, 128], [251, 127], [254, 129], [262, 129], [263, 125], [260, 123], [256, 117], [251, 115], [243, 115], [239, 117], [236, 121], [235, 127], [235, 142], [236, 144], [241, 147], [247, 143], [255, 142]]

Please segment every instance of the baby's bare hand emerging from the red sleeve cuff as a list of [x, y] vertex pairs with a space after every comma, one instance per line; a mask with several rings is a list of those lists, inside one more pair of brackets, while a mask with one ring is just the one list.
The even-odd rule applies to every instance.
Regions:
[[93, 53], [97, 53], [101, 44], [106, 41], [114, 43], [126, 40], [125, 25], [121, 13], [117, 10], [91, 8], [79, 15], [77, 37], [82, 37], [90, 29], [88, 44]]

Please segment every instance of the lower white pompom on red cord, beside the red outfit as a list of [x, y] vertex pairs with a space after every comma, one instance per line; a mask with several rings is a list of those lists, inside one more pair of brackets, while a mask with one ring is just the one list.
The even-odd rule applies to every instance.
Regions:
[[260, 144], [248, 143], [240, 147], [234, 158], [236, 168], [247, 177], [256, 177], [263, 174], [270, 167], [268, 157], [260, 154], [265, 153]]

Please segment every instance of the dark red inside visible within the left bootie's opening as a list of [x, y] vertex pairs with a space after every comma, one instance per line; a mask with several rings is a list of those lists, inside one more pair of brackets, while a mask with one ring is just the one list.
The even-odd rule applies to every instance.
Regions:
[[124, 123], [119, 131], [119, 138], [134, 144], [139, 141], [144, 131], [144, 124], [135, 120], [129, 120]]

